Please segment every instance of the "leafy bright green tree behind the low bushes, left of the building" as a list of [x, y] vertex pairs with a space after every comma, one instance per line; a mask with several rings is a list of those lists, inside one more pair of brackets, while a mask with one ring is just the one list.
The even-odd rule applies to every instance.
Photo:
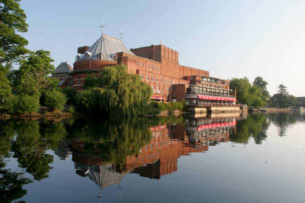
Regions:
[[20, 95], [40, 96], [41, 93], [48, 89], [54, 89], [58, 84], [58, 79], [48, 77], [55, 72], [51, 62], [50, 52], [38, 50], [31, 52], [27, 61], [21, 64], [17, 70], [14, 88]]

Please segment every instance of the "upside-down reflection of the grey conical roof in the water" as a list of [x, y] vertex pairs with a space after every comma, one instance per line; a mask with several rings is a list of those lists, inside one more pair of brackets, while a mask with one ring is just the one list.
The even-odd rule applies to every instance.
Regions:
[[[90, 180], [95, 182], [100, 188], [107, 188], [114, 184], [119, 184], [121, 179], [128, 173], [118, 173], [112, 169], [112, 164], [83, 165], [75, 162], [77, 174], [86, 174]], [[82, 173], [78, 171], [82, 171]], [[83, 176], [83, 175], [82, 175]]]

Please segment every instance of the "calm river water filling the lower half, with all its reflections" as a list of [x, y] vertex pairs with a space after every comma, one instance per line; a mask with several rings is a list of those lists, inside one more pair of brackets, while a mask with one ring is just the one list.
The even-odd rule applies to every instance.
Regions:
[[0, 202], [304, 203], [305, 111], [0, 120]]

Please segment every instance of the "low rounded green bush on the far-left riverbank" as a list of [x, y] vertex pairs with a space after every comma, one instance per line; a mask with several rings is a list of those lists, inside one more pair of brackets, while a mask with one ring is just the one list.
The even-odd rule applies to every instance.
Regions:
[[10, 96], [4, 102], [5, 111], [10, 114], [24, 114], [38, 111], [39, 102], [35, 96]]

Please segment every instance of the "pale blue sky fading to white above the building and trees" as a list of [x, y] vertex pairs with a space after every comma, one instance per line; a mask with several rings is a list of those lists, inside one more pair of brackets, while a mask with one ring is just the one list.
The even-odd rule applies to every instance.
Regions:
[[304, 0], [21, 0], [28, 49], [75, 62], [77, 47], [104, 33], [129, 49], [161, 44], [179, 64], [221, 79], [257, 76], [271, 95], [284, 84], [305, 97]]

